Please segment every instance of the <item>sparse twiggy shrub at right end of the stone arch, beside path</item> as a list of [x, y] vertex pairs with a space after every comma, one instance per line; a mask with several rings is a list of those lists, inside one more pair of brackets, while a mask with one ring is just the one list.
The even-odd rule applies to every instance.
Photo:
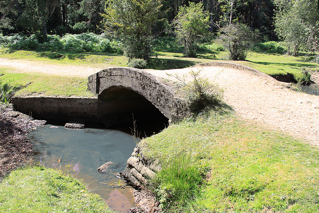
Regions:
[[223, 90], [207, 77], [200, 76], [201, 70], [189, 71], [191, 81], [186, 82], [186, 76], [170, 75], [182, 82], [183, 90], [186, 92], [189, 109], [192, 113], [199, 113], [206, 107], [215, 105], [223, 98]]

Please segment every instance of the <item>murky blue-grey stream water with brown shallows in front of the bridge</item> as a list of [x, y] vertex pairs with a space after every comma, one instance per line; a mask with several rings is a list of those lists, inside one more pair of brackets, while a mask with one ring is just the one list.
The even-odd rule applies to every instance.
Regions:
[[[61, 126], [46, 125], [30, 131], [36, 156], [46, 167], [70, 173], [82, 179], [92, 193], [99, 194], [108, 206], [127, 213], [135, 206], [131, 188], [123, 188], [124, 180], [117, 177], [123, 172], [126, 161], [136, 145], [130, 134], [117, 130], [71, 130]], [[113, 162], [104, 173], [97, 168]]]

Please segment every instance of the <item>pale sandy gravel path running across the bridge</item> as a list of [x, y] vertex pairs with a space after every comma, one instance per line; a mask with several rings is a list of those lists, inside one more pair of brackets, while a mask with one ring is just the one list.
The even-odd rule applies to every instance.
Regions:
[[[0, 59], [1, 66], [12, 67], [21, 72], [80, 77], [89, 76], [103, 69], [87, 66], [52, 66], [6, 59]], [[225, 89], [224, 100], [243, 118], [266, 123], [319, 146], [319, 96], [291, 91], [267, 75], [256, 75], [250, 71], [222, 67], [201, 69], [202, 74], [215, 80], [215, 83]], [[151, 74], [164, 78], [172, 78], [165, 73], [182, 75], [188, 71], [189, 69], [148, 70]]]

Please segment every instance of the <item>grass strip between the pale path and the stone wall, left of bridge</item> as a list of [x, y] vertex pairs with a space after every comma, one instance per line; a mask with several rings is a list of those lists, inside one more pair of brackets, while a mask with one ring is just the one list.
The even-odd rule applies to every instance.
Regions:
[[0, 82], [8, 83], [12, 86], [27, 85], [16, 92], [16, 96], [94, 96], [93, 93], [87, 91], [87, 78], [17, 73], [12, 71], [14, 70], [0, 68], [0, 74], [3, 74], [0, 76]]

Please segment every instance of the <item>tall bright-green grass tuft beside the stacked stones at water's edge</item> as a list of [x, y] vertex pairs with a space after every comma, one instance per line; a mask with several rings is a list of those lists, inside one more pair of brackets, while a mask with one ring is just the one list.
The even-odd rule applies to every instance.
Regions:
[[171, 159], [162, 159], [162, 170], [154, 181], [154, 192], [164, 212], [179, 212], [199, 194], [203, 169], [193, 164], [183, 151]]

